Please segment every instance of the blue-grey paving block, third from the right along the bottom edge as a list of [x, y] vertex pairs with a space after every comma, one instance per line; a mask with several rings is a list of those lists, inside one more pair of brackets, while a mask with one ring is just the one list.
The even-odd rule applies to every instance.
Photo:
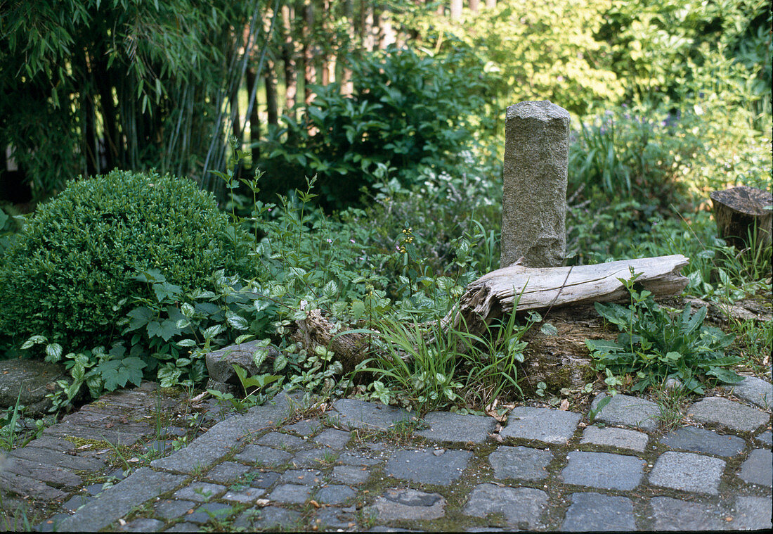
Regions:
[[633, 501], [599, 493], [573, 493], [561, 530], [630, 532], [636, 529]]

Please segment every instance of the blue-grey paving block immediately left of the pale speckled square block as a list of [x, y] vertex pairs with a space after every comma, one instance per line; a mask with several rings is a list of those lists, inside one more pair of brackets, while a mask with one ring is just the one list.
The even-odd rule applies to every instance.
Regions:
[[572, 450], [560, 478], [589, 488], [632, 490], [642, 481], [644, 460], [635, 456]]

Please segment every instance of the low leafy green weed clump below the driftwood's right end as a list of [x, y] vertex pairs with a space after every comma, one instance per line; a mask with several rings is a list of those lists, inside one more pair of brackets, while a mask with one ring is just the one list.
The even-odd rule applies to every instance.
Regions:
[[635, 288], [636, 277], [632, 272], [630, 280], [621, 280], [631, 294], [628, 307], [595, 304], [601, 317], [621, 331], [616, 341], [585, 341], [596, 368], [608, 369], [615, 375], [634, 374], [634, 391], [660, 384], [666, 378], [677, 378], [686, 389], [696, 393], [703, 393], [703, 376], [740, 382], [742, 377], [727, 369], [740, 359], [724, 355], [733, 336], [703, 326], [706, 307], [691, 314], [688, 304], [674, 321], [655, 303], [652, 293]]

